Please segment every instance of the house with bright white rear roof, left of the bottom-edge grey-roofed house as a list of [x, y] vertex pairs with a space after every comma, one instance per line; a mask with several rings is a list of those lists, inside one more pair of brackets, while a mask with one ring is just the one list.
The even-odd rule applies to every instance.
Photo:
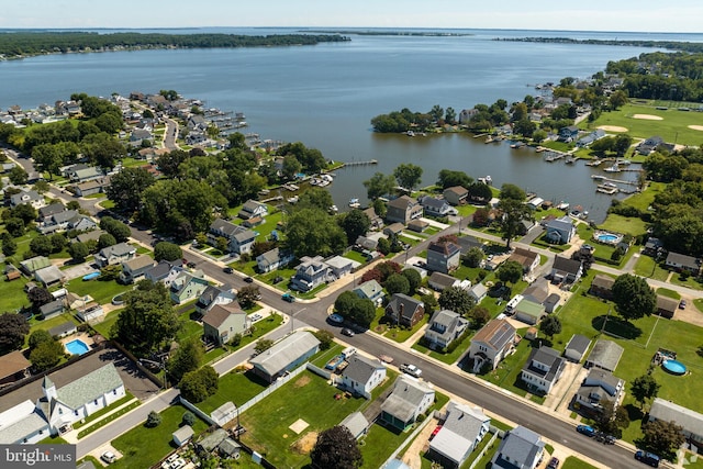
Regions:
[[458, 469], [481, 443], [491, 426], [491, 418], [479, 407], [449, 401], [439, 432], [429, 440], [427, 459], [443, 468]]

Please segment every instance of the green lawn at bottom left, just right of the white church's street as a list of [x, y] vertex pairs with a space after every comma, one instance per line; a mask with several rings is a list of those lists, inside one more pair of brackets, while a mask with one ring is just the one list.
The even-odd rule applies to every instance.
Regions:
[[[161, 412], [161, 424], [154, 428], [147, 428], [143, 424], [132, 428], [124, 435], [112, 440], [112, 446], [122, 458], [110, 465], [111, 468], [147, 468], [157, 462], [175, 446], [171, 434], [178, 429], [187, 409], [181, 405], [171, 405]], [[208, 425], [200, 418], [196, 420], [193, 431], [196, 435], [204, 432]]]

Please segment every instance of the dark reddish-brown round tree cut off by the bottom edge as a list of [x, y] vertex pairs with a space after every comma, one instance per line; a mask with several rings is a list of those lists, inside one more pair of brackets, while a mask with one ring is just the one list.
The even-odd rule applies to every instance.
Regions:
[[325, 429], [310, 453], [314, 469], [356, 469], [364, 464], [364, 457], [354, 435], [346, 426], [337, 425]]

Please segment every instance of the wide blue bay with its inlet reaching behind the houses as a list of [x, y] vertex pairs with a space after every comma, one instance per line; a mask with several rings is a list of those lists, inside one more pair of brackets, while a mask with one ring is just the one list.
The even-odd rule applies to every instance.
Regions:
[[[249, 34], [291, 30], [187, 30]], [[247, 132], [303, 142], [335, 160], [377, 159], [379, 165], [337, 171], [331, 192], [338, 206], [365, 199], [361, 182], [401, 163], [424, 168], [423, 185], [440, 169], [491, 175], [495, 186], [515, 183], [544, 199], [581, 204], [602, 221], [611, 196], [595, 193], [582, 164], [546, 164], [527, 149], [484, 145], [466, 134], [411, 138], [371, 132], [370, 119], [402, 108], [434, 104], [457, 113], [477, 103], [537, 96], [535, 83], [587, 78], [609, 60], [650, 52], [641, 47], [496, 42], [495, 37], [569, 36], [703, 41], [703, 35], [467, 30], [467, 36], [349, 34], [347, 43], [301, 47], [143, 51], [48, 55], [0, 63], [0, 108], [24, 109], [68, 99], [74, 92], [109, 96], [175, 89], [207, 105], [247, 115]], [[622, 175], [622, 174], [621, 174]], [[620, 177], [620, 176], [618, 176]], [[623, 178], [634, 178], [625, 174]]]

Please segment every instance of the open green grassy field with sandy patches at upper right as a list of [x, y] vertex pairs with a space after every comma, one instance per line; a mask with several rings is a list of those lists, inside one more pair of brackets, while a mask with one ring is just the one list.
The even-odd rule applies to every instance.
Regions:
[[[661, 120], [635, 119], [637, 114], [648, 114]], [[635, 138], [661, 136], [665, 142], [698, 146], [703, 139], [703, 132], [689, 129], [689, 125], [701, 125], [701, 114], [682, 112], [676, 109], [666, 111], [645, 104], [629, 103], [617, 111], [603, 112], [595, 122], [585, 123], [588, 129], [612, 125], [627, 129], [627, 134]]]

